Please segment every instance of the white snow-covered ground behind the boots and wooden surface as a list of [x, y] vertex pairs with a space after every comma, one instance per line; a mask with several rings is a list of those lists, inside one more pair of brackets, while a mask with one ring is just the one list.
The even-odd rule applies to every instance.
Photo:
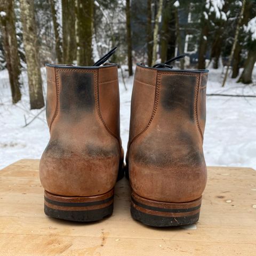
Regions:
[[[42, 68], [45, 81], [46, 73]], [[26, 73], [22, 79], [27, 84]], [[236, 83], [229, 78], [221, 87], [222, 69], [210, 70], [207, 93], [256, 95], [256, 86]], [[254, 81], [256, 70], [254, 69]], [[126, 78], [127, 91], [120, 77], [121, 137], [126, 149], [129, 136], [130, 103], [133, 78]], [[28, 88], [22, 100], [12, 105], [9, 78], [0, 71], [0, 169], [21, 158], [39, 158], [49, 140], [45, 111], [29, 110]], [[40, 111], [38, 118], [25, 126]], [[204, 152], [207, 165], [246, 166], [256, 169], [256, 98], [207, 97], [207, 122]]]

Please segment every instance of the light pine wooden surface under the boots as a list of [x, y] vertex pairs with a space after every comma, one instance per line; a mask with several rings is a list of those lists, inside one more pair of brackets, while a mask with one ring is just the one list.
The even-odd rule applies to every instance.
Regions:
[[130, 216], [126, 179], [114, 214], [95, 223], [46, 217], [37, 160], [0, 171], [0, 255], [256, 255], [256, 171], [209, 167], [201, 217], [184, 228], [150, 228]]

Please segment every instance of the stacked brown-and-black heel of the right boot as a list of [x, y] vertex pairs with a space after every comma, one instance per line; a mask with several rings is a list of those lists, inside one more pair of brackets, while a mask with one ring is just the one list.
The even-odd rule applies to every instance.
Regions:
[[133, 219], [153, 227], [193, 224], [198, 221], [202, 197], [186, 203], [166, 203], [149, 200], [132, 191]]

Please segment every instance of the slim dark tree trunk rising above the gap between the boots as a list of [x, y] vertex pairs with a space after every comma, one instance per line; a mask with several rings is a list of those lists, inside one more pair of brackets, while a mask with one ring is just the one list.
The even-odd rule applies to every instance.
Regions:
[[132, 76], [132, 36], [131, 36], [131, 6], [130, 0], [126, 0], [126, 39], [129, 76]]

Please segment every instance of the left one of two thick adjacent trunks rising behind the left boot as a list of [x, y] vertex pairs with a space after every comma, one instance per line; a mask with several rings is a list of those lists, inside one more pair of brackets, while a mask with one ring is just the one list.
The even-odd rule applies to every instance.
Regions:
[[73, 0], [62, 0], [62, 51], [63, 63], [72, 64], [76, 59], [76, 18]]

